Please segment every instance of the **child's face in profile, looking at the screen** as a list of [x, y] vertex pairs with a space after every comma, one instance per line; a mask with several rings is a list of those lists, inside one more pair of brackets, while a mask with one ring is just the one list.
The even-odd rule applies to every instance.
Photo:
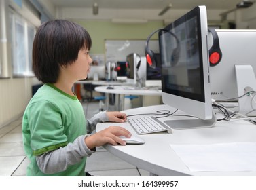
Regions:
[[78, 53], [77, 60], [70, 65], [72, 67], [71, 73], [76, 81], [87, 78], [91, 63], [92, 58], [90, 58], [89, 51], [81, 49]]

